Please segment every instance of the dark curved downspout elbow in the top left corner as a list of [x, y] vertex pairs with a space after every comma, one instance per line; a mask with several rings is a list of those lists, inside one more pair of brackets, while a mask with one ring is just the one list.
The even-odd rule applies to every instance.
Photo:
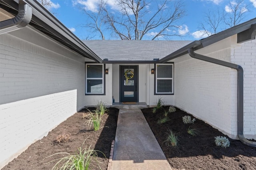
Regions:
[[17, 16], [12, 19], [0, 21], [0, 34], [8, 33], [21, 29], [30, 23], [32, 18], [32, 8], [23, 2], [19, 1], [19, 11]]

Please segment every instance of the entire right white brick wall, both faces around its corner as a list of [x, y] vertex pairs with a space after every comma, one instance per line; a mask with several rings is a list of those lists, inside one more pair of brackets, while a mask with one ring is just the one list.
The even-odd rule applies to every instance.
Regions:
[[[244, 68], [244, 134], [256, 139], [256, 41], [235, 42], [233, 36], [195, 52]], [[183, 58], [174, 67], [175, 105], [237, 139], [236, 70]]]

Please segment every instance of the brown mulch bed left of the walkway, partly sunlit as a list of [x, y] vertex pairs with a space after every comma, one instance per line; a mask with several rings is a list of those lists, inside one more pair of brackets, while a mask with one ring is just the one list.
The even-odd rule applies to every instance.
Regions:
[[[89, 109], [93, 110], [95, 108]], [[45, 163], [60, 158], [64, 156], [64, 154], [47, 159], [44, 158], [57, 152], [74, 153], [82, 146], [85, 139], [84, 147], [87, 146], [88, 148], [91, 145], [92, 149], [100, 150], [106, 155], [105, 158], [105, 156], [99, 152], [98, 157], [102, 163], [98, 165], [97, 162], [92, 162], [90, 169], [98, 170], [100, 169], [98, 166], [100, 166], [102, 170], [106, 170], [110, 156], [111, 142], [115, 139], [116, 135], [116, 124], [119, 112], [119, 109], [116, 108], [108, 109], [108, 113], [104, 114], [102, 117], [102, 128], [99, 131], [93, 131], [93, 127], [91, 129], [87, 128], [86, 120], [88, 120], [88, 118], [83, 118], [83, 114], [87, 115], [88, 110], [82, 109], [50, 131], [46, 137], [30, 145], [27, 150], [22, 152], [18, 158], [15, 158], [4, 166], [2, 170], [51, 170], [54, 163]], [[63, 134], [70, 134], [70, 141], [57, 143], [56, 137]]]

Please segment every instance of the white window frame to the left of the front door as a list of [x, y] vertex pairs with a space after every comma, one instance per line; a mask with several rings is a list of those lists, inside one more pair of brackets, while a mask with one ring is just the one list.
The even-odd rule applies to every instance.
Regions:
[[[87, 78], [87, 65], [102, 65], [102, 78]], [[102, 92], [87, 92], [87, 80], [102, 80]], [[86, 95], [105, 95], [105, 64], [85, 63], [85, 94]]]

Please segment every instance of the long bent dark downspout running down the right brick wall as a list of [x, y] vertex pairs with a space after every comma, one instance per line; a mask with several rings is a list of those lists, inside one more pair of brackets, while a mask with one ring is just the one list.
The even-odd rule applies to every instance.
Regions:
[[234, 68], [237, 70], [237, 134], [242, 143], [256, 147], [256, 142], [249, 141], [244, 137], [244, 70], [242, 66], [196, 54], [192, 48], [188, 49], [188, 54], [190, 57], [195, 59]]

